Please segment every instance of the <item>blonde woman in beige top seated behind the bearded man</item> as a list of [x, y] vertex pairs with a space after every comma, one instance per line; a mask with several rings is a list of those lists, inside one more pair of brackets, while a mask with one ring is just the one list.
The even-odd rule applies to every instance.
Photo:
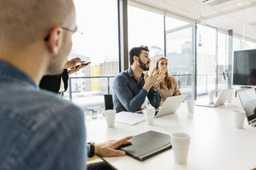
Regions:
[[[162, 69], [162, 67], [167, 68], [167, 63], [168, 63], [167, 58], [164, 58], [164, 57], [158, 58], [158, 60], [156, 61], [155, 69], [156, 70]], [[164, 104], [164, 101], [165, 99], [167, 99], [167, 97], [180, 95], [180, 90], [178, 89], [177, 82], [173, 76], [169, 75], [168, 70], [164, 80], [160, 83], [159, 90], [160, 90], [160, 94], [162, 95], [161, 106], [162, 104]]]

